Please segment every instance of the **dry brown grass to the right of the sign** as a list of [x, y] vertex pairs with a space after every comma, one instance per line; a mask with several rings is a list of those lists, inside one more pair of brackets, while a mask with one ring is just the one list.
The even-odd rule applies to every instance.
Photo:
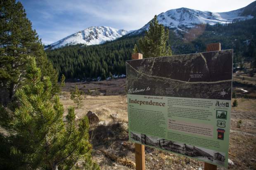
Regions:
[[[232, 102], [234, 99], [232, 99]], [[228, 169], [256, 169], [256, 100], [237, 98], [238, 106], [232, 107], [230, 123], [230, 155], [235, 163]], [[240, 128], [237, 122], [242, 120]], [[223, 168], [220, 168], [223, 169]]]

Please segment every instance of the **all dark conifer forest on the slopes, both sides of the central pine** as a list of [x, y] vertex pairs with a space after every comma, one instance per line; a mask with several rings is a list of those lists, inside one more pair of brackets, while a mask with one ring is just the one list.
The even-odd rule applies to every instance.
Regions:
[[[173, 55], [204, 52], [206, 44], [220, 42], [222, 49], [234, 49], [236, 65], [244, 60], [255, 63], [256, 19], [214, 26], [205, 24], [199, 28], [203, 29], [202, 32], [191, 40], [186, 37], [187, 34], [169, 31], [168, 44], [171, 44]], [[200, 30], [195, 30], [195, 33], [197, 32]], [[85, 77], [105, 79], [114, 74], [126, 74], [125, 61], [130, 60], [134, 44], [143, 34], [124, 36], [101, 45], [85, 47], [78, 44], [54, 50], [47, 49], [46, 53], [59, 75], [64, 74], [69, 80]], [[193, 34], [192, 32], [191, 35]]]

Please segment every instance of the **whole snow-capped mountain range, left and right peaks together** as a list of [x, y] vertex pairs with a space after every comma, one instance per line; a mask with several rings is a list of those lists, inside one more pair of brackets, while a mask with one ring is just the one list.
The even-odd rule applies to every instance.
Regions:
[[[209, 12], [199, 11], [189, 8], [171, 9], [157, 16], [160, 24], [168, 28], [176, 28], [178, 30], [186, 30], [193, 28], [196, 24], [209, 23], [232, 23], [233, 21], [247, 20], [256, 17], [256, 1], [246, 7], [230, 11], [230, 12]], [[86, 44], [95, 45], [102, 44], [106, 41], [112, 41], [123, 35], [135, 35], [149, 28], [150, 21], [138, 30], [126, 31], [117, 30], [115, 28], [101, 26], [89, 27], [75, 34], [69, 35], [55, 43], [50, 44], [47, 48], [56, 49], [66, 45]]]

